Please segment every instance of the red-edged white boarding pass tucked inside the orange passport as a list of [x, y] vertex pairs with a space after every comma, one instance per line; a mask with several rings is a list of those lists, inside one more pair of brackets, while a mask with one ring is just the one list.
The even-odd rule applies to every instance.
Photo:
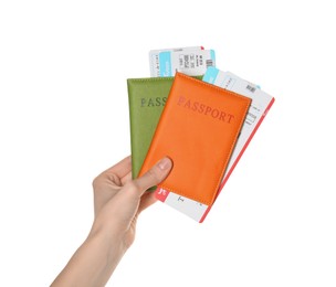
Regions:
[[[220, 188], [217, 192], [217, 198], [223, 189], [229, 177], [231, 176], [238, 161], [242, 157], [244, 150], [249, 146], [255, 131], [260, 127], [262, 120], [272, 107], [274, 103], [274, 97], [263, 92], [258, 85], [254, 85], [243, 78], [240, 78], [231, 72], [223, 72], [216, 67], [209, 67], [203, 76], [203, 81], [235, 92], [243, 96], [250, 97], [252, 99], [245, 121], [241, 129], [241, 134], [237, 140], [234, 150], [222, 178]], [[158, 200], [165, 202], [166, 204], [185, 213], [186, 215], [198, 222], [203, 222], [211, 209], [211, 206], [204, 205], [188, 198], [180, 196], [175, 192], [167, 191], [161, 188], [157, 188], [155, 193]]]

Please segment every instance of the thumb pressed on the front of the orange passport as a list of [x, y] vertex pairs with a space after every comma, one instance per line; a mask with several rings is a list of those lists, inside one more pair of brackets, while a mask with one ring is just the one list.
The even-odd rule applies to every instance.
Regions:
[[169, 158], [162, 158], [150, 170], [140, 178], [136, 179], [136, 185], [140, 188], [141, 194], [149, 188], [164, 181], [172, 168], [172, 161]]

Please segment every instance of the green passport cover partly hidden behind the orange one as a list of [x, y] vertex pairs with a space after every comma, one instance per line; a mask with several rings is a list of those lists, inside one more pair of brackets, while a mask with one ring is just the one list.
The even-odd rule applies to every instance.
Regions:
[[127, 78], [133, 178], [143, 166], [172, 81], [174, 77]]

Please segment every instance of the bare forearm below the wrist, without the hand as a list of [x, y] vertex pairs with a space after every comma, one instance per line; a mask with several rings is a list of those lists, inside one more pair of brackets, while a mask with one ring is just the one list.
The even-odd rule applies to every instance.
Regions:
[[105, 286], [125, 251], [103, 230], [91, 232], [51, 286]]

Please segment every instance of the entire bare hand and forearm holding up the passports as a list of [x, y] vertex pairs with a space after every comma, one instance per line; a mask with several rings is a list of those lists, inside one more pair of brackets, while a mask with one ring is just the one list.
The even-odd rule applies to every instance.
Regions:
[[127, 157], [96, 177], [93, 226], [51, 286], [105, 286], [135, 240], [139, 214], [156, 202], [154, 193], [145, 191], [160, 183], [171, 168], [171, 160], [164, 158], [132, 180]]

